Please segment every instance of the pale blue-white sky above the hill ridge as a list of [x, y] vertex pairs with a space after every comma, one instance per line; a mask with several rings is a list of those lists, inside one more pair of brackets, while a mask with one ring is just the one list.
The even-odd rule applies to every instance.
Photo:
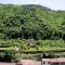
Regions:
[[65, 0], [0, 0], [4, 4], [40, 4], [52, 10], [65, 10]]

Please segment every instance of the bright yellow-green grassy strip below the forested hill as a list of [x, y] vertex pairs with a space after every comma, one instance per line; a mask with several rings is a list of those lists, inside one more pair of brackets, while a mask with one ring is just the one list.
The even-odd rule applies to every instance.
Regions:
[[21, 52], [43, 52], [43, 51], [63, 51], [65, 50], [64, 40], [36, 40], [35, 48], [28, 46], [27, 40], [11, 39], [0, 40], [0, 43], [9, 43], [10, 47], [1, 48], [0, 50], [15, 50], [14, 44], [17, 44]]

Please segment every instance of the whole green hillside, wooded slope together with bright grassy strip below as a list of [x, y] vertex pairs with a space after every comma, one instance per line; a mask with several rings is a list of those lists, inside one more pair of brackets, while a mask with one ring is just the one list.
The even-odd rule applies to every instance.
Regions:
[[[28, 40], [34, 39], [31, 47]], [[10, 47], [2, 48], [2, 43]], [[27, 4], [0, 4], [0, 50], [39, 52], [65, 50], [65, 11]]]

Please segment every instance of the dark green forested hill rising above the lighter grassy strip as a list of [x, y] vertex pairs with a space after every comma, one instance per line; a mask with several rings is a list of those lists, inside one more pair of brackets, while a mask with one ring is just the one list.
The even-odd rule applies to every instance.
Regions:
[[65, 11], [41, 5], [0, 4], [0, 39], [65, 39]]

